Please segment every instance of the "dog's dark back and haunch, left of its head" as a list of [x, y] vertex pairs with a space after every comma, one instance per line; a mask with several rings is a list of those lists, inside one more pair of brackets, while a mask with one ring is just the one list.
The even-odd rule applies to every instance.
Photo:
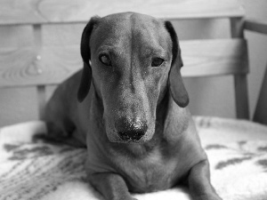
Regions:
[[[46, 104], [42, 117], [47, 126], [48, 138], [75, 147], [85, 147], [85, 130], [78, 129], [77, 89], [82, 71], [79, 70], [61, 83]], [[90, 105], [90, 104], [89, 104]]]

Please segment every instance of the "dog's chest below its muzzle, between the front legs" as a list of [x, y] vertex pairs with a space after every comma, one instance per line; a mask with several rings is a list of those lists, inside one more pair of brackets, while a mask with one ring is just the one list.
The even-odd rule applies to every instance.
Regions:
[[142, 157], [122, 156], [116, 164], [118, 173], [124, 177], [132, 192], [171, 188], [180, 177], [177, 159], [166, 158], [159, 149]]

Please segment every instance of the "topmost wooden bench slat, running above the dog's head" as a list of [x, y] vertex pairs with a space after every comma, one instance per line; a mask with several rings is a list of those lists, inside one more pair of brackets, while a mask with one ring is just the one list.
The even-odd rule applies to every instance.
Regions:
[[116, 12], [176, 20], [244, 16], [239, 0], [1, 0], [0, 25], [85, 22]]

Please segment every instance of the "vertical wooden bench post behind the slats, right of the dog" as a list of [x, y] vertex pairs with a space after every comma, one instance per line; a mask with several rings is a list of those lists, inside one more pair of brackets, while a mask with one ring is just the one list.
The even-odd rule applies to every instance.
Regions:
[[[244, 38], [243, 18], [231, 18], [231, 37]], [[247, 75], [235, 75], [234, 87], [237, 117], [249, 119]]]

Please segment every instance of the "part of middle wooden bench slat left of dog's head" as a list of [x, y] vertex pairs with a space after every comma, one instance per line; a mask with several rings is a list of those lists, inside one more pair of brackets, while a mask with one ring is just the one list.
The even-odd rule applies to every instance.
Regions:
[[82, 67], [79, 46], [0, 49], [0, 87], [59, 84]]

